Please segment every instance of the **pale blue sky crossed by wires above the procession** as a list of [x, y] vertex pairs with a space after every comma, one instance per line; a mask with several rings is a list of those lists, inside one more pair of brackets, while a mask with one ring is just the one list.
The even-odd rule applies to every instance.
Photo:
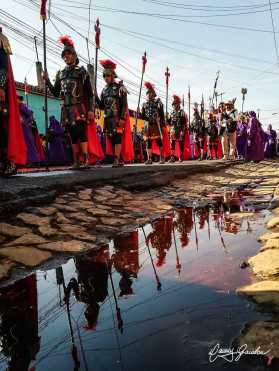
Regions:
[[[25, 28], [22, 35], [15, 34], [11, 28], [21, 29], [21, 26], [7, 18], [7, 13], [35, 29], [42, 60], [42, 22], [36, 3], [39, 0], [1, 0], [0, 7], [0, 25], [13, 48], [15, 78], [23, 81], [26, 77], [30, 84], [36, 84], [34, 34], [29, 31], [29, 40], [22, 37]], [[146, 51], [144, 80], [155, 84], [164, 103], [167, 66], [171, 74], [169, 96], [184, 94], [187, 99], [190, 85], [192, 102], [200, 102], [203, 94], [207, 106], [216, 72], [220, 71], [217, 91], [225, 93], [223, 99], [237, 98], [236, 105], [241, 110], [241, 89], [247, 88], [244, 109], [259, 109], [263, 125], [272, 123], [279, 130], [279, 114], [273, 115], [279, 112], [279, 64], [268, 0], [197, 0], [197, 3], [194, 0], [48, 0], [48, 3], [47, 35], [56, 41], [57, 51], [62, 49], [57, 41], [59, 36], [70, 35], [84, 62], [88, 59], [85, 38], [89, 35], [89, 40], [94, 41], [94, 23], [100, 19], [99, 58], [109, 57], [117, 62], [118, 76], [130, 91], [130, 108], [137, 106], [141, 57]], [[271, 6], [279, 43], [279, 1], [272, 0]], [[93, 45], [89, 52], [92, 59]], [[59, 56], [48, 54], [51, 78], [62, 66]], [[103, 85], [100, 75], [99, 92]], [[142, 101], [144, 98], [143, 90]]]

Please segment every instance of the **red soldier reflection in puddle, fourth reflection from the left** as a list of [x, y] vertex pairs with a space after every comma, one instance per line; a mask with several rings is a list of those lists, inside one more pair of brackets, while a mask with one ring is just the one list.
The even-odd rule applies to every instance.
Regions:
[[157, 250], [157, 267], [165, 264], [167, 251], [172, 244], [172, 218], [166, 217], [152, 223], [153, 232], [147, 236], [147, 243], [151, 242]]

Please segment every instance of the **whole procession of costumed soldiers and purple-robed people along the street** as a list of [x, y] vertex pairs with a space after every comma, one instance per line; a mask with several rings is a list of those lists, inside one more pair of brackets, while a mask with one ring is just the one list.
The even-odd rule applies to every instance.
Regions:
[[[9, 40], [0, 31], [0, 162], [2, 173], [17, 166], [70, 165], [74, 169], [95, 163], [113, 167], [139, 162], [152, 165], [190, 159], [243, 159], [261, 161], [276, 156], [277, 135], [265, 132], [255, 112], [238, 113], [235, 100], [204, 109], [193, 104], [191, 117], [174, 95], [166, 113], [154, 85], [145, 82], [146, 101], [137, 116], [144, 122], [131, 129], [128, 91], [117, 80], [116, 64], [101, 60], [105, 87], [101, 95], [92, 87], [86, 68], [79, 66], [73, 41], [64, 36], [61, 57], [65, 67], [54, 84], [47, 71], [43, 78], [50, 93], [62, 100], [61, 119], [50, 117], [45, 136], [39, 135], [32, 110], [15, 90]], [[97, 125], [96, 112], [104, 113]], [[137, 122], [137, 120], [136, 120]], [[142, 122], [142, 121], [141, 121]]]

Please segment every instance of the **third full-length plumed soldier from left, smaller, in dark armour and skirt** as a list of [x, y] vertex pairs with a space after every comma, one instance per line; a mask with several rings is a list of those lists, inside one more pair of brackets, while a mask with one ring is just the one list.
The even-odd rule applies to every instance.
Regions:
[[152, 142], [155, 141], [160, 149], [161, 161], [163, 158], [163, 129], [165, 128], [164, 105], [160, 98], [156, 97], [154, 86], [145, 82], [147, 101], [142, 105], [142, 119], [145, 121], [144, 139], [147, 147], [147, 165], [152, 164]]

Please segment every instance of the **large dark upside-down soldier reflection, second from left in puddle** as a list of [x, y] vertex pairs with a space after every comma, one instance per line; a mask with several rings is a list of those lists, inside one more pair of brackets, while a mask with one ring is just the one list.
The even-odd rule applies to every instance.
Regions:
[[69, 300], [71, 290], [78, 301], [86, 304], [84, 316], [88, 328], [97, 325], [102, 303], [108, 295], [108, 246], [76, 258], [78, 279], [72, 278], [66, 288], [65, 300]]

